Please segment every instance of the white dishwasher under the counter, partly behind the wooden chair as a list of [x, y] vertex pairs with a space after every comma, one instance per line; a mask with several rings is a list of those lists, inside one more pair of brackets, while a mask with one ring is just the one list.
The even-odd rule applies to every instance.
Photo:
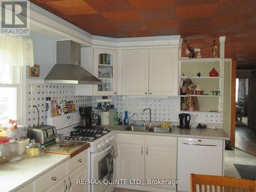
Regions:
[[178, 138], [178, 191], [190, 191], [190, 173], [222, 176], [223, 141]]

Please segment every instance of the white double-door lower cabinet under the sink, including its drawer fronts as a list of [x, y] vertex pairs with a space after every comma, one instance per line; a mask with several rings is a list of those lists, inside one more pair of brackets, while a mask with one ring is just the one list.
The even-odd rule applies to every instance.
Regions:
[[152, 180], [177, 179], [177, 137], [117, 134], [116, 141], [117, 179], [127, 179], [128, 182], [140, 179], [144, 183], [122, 187], [146, 188], [148, 191], [176, 190], [176, 185], [151, 183]]

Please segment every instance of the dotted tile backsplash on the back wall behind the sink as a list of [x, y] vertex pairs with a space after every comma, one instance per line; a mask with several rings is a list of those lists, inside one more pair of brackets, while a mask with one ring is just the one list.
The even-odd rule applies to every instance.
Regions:
[[[168, 97], [168, 98], [142, 98], [131, 96], [110, 96], [113, 99], [113, 103], [118, 113], [128, 111], [129, 119], [133, 113], [137, 113], [134, 116], [136, 120], [149, 120], [149, 111], [145, 111], [142, 114], [143, 109], [151, 108], [152, 120], [159, 121], [179, 121], [178, 114], [180, 112], [180, 98]], [[97, 106], [96, 99], [102, 99], [100, 96], [94, 96], [92, 98], [93, 108]], [[95, 110], [95, 109], [94, 109]], [[221, 113], [190, 113], [191, 122], [194, 123], [222, 123], [223, 116]], [[124, 113], [123, 113], [124, 117]]]

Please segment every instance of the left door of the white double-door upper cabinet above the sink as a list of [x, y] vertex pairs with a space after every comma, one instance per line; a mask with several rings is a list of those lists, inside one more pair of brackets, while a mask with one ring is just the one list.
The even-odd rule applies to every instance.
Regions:
[[148, 49], [122, 51], [122, 94], [148, 94]]

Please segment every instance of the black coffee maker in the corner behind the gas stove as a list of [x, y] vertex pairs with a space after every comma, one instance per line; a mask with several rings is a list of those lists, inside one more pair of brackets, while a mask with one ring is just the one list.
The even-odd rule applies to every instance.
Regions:
[[79, 127], [83, 129], [92, 128], [92, 106], [79, 106]]

